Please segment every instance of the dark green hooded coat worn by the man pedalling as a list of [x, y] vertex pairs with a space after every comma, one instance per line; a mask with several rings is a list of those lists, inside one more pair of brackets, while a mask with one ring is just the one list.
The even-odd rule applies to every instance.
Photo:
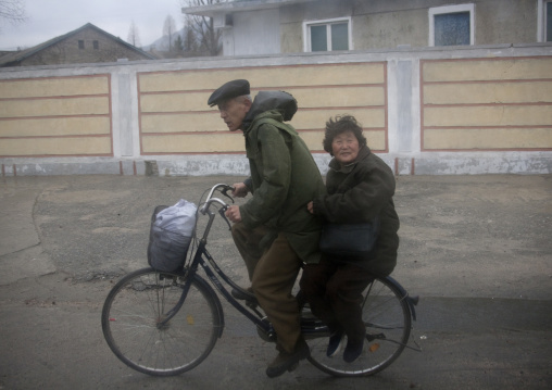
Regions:
[[304, 263], [319, 261], [321, 221], [306, 204], [325, 192], [314, 159], [298, 133], [284, 123], [297, 110], [286, 92], [259, 92], [244, 119], [243, 136], [251, 168], [246, 180], [253, 197], [240, 206], [246, 227], [284, 232]]

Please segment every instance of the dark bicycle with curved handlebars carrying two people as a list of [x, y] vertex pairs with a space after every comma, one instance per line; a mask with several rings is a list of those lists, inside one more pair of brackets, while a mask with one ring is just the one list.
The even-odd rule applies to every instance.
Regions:
[[[231, 189], [215, 185], [200, 204], [198, 215], [208, 215], [209, 219], [202, 238], [193, 246], [195, 253], [192, 250], [181, 269], [138, 269], [124, 276], [108, 294], [101, 318], [103, 335], [113, 353], [130, 368], [152, 376], [179, 375], [211, 353], [223, 335], [224, 313], [218, 295], [199, 275], [200, 267], [216, 290], [256, 326], [263, 340], [276, 341], [277, 335], [254, 295], [234, 282], [206, 250], [216, 216], [212, 209], [218, 207], [218, 214], [230, 226], [224, 215], [229, 205], [214, 194], [218, 191], [234, 202], [227, 193]], [[236, 300], [223, 281], [248, 299]], [[334, 376], [373, 375], [393, 363], [404, 348], [411, 348], [407, 341], [412, 320], [416, 319], [417, 297], [410, 297], [391, 277], [374, 279], [363, 297], [367, 342], [353, 363], [326, 356], [328, 328], [308, 306], [302, 307], [301, 329], [311, 349], [309, 361], [318, 369]]]

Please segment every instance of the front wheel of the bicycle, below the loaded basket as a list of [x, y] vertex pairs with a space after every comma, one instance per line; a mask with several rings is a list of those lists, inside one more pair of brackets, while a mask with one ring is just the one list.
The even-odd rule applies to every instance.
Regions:
[[101, 319], [113, 353], [153, 376], [178, 375], [200, 364], [222, 326], [212, 290], [201, 281], [191, 280], [184, 304], [166, 320], [183, 295], [181, 275], [145, 268], [121, 279], [105, 299]]

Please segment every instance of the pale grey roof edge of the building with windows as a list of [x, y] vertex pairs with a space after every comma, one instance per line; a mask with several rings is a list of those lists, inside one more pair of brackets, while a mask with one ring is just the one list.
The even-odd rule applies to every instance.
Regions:
[[184, 7], [181, 11], [185, 14], [213, 17], [215, 14], [221, 13], [268, 10], [312, 1], [317, 0], [236, 0], [211, 5]]

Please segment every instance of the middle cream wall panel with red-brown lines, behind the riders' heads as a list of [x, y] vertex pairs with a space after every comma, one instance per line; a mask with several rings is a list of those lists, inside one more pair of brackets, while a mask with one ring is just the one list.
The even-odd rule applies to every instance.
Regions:
[[229, 79], [248, 78], [252, 95], [285, 89], [301, 109], [291, 122], [314, 152], [329, 115], [343, 111], [365, 124], [375, 150], [387, 151], [386, 64], [340, 63], [251, 66], [138, 74], [141, 154], [236, 153], [241, 134], [229, 133], [216, 108], [205, 102]]

